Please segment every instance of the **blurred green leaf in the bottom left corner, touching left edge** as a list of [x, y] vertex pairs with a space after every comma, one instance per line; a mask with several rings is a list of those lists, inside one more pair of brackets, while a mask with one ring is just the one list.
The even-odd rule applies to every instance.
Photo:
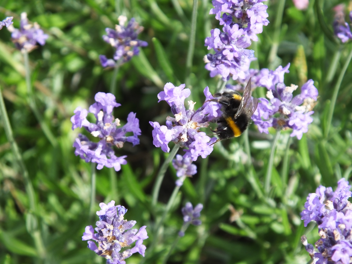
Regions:
[[34, 247], [31, 247], [21, 240], [12, 237], [12, 235], [8, 234], [5, 231], [0, 229], [0, 241], [6, 249], [12, 253], [19, 254], [21, 256], [29, 256], [29, 257], [37, 257], [37, 251]]

